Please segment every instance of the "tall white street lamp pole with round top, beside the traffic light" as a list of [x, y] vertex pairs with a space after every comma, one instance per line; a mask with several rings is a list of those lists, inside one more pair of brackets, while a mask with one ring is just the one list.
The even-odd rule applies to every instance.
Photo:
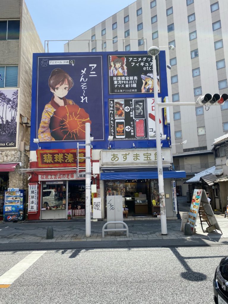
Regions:
[[[168, 46], [169, 49], [174, 50], [174, 46]], [[154, 79], [157, 79], [157, 67], [155, 56], [160, 52], [159, 47], [150, 47], [147, 53], [153, 58], [153, 74]], [[166, 211], [165, 211], [165, 193], [164, 193], [164, 179], [162, 169], [162, 155], [161, 155], [161, 138], [160, 138], [160, 122], [159, 122], [159, 106], [158, 106], [158, 88], [157, 81], [154, 81], [154, 114], [155, 114], [155, 128], [156, 128], [156, 147], [157, 147], [157, 174], [158, 174], [158, 188], [160, 198], [160, 214], [161, 214], [161, 234], [167, 234]]]

